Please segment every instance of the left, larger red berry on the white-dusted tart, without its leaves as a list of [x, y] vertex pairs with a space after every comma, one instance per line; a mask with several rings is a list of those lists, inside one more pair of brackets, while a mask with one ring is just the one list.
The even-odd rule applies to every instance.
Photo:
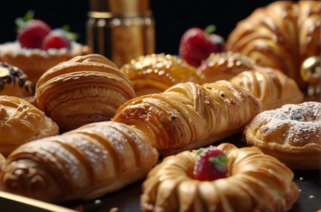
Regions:
[[17, 39], [22, 48], [40, 49], [43, 39], [52, 29], [42, 20], [31, 19], [25, 23], [25, 26], [19, 28]]

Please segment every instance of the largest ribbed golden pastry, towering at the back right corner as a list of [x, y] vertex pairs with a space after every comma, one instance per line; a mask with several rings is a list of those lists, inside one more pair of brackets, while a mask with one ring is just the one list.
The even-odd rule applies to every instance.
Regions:
[[319, 42], [320, 1], [275, 1], [239, 21], [226, 48], [251, 57], [257, 65], [282, 70], [305, 90], [300, 66], [320, 55]]

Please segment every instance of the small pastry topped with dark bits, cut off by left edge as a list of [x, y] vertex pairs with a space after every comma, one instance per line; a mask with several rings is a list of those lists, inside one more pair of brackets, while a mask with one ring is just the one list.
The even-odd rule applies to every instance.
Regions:
[[0, 96], [27, 98], [34, 95], [34, 84], [18, 67], [0, 62]]

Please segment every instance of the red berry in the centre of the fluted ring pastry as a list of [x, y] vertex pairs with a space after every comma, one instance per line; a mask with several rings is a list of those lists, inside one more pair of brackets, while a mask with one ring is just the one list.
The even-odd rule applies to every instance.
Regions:
[[194, 167], [194, 178], [197, 180], [216, 180], [227, 177], [225, 154], [214, 146], [197, 151], [197, 161]]

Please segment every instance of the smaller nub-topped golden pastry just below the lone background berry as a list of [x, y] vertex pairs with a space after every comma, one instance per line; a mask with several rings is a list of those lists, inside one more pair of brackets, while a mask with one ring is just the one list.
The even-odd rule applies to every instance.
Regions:
[[231, 51], [212, 53], [198, 67], [206, 83], [230, 80], [240, 72], [254, 69], [255, 61], [240, 53]]

